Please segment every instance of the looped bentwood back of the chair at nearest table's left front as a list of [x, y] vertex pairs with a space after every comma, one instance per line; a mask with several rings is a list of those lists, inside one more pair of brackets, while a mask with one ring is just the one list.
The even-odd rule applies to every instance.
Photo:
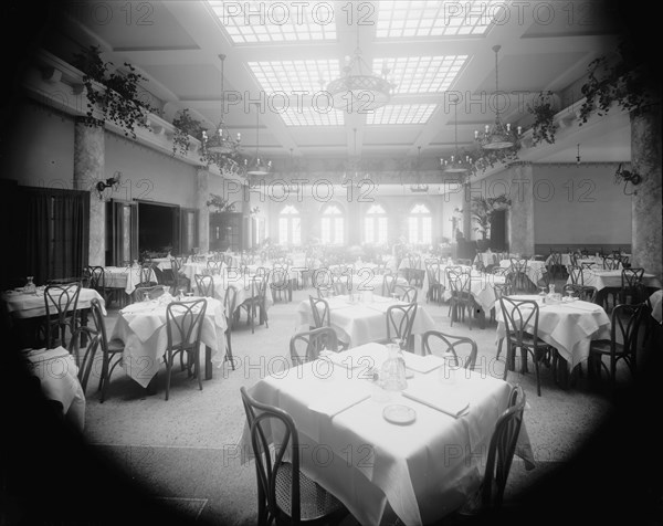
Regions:
[[[282, 509], [278, 506], [276, 493], [277, 481], [291, 481], [290, 487], [290, 516], [294, 524], [301, 519], [299, 496], [299, 435], [292, 417], [283, 409], [260, 403], [254, 400], [245, 387], [240, 388], [242, 403], [246, 413], [246, 423], [251, 435], [251, 446], [255, 457], [255, 474], [257, 478], [257, 506], [259, 516], [263, 517], [265, 524], [271, 518], [280, 516]], [[270, 448], [272, 430], [283, 429], [273, 450]], [[287, 455], [286, 455], [287, 453]], [[287, 459], [287, 462], [284, 460]], [[286, 476], [281, 476], [281, 471], [287, 471]]]

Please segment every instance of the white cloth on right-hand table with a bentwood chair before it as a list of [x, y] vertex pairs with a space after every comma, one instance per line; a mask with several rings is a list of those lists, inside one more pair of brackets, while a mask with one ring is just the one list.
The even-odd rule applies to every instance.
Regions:
[[[536, 299], [535, 295], [509, 296], [514, 299]], [[502, 308], [495, 306], [497, 339], [506, 335]], [[534, 327], [529, 326], [532, 330]], [[576, 301], [558, 305], [539, 304], [538, 337], [555, 347], [567, 360], [570, 370], [589, 356], [592, 339], [610, 339], [610, 317], [596, 303]]]

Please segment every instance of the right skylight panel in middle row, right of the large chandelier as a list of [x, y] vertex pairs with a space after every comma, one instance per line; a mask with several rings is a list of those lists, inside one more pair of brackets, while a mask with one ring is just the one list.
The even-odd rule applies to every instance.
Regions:
[[394, 94], [441, 93], [451, 87], [467, 55], [375, 59], [373, 71], [389, 70]]

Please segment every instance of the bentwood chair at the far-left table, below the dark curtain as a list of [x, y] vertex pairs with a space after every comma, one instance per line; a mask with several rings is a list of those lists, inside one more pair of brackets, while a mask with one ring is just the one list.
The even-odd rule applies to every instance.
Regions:
[[63, 285], [46, 285], [44, 305], [46, 308], [45, 335], [46, 347], [59, 345], [66, 347], [66, 329], [73, 335], [78, 328], [78, 296], [81, 282]]

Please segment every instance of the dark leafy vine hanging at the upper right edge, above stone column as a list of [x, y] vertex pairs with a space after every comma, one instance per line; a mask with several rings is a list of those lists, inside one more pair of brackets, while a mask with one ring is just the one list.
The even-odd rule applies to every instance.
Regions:
[[580, 88], [585, 96], [578, 115], [580, 126], [593, 112], [599, 116], [607, 114], [614, 103], [634, 114], [661, 103], [661, 81], [656, 77], [656, 69], [645, 62], [646, 53], [622, 41], [618, 54], [619, 59], [612, 65], [608, 57], [601, 56], [587, 67], [588, 78]]

